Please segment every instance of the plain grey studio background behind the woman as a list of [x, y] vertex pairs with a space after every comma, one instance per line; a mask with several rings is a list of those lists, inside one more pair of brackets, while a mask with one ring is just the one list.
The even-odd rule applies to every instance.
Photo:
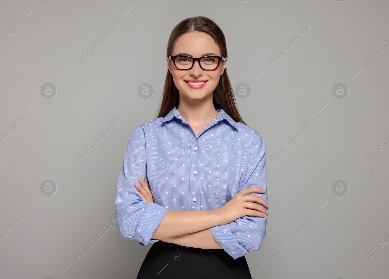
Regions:
[[[133, 128], [154, 119], [173, 27], [207, 16], [223, 30], [227, 70], [247, 124], [266, 142], [266, 238], [246, 256], [253, 278], [384, 278], [389, 244], [389, 146], [369, 163], [388, 129], [388, 2], [381, 1], [2, 1], [0, 143], [2, 278], [136, 278], [151, 245], [124, 239], [116, 224], [77, 260], [78, 249], [115, 218], [115, 195]], [[82, 62], [75, 58], [116, 20], [120, 24]], [[271, 65], [273, 54], [311, 19], [315, 24]], [[96, 45], [96, 44], [95, 44]], [[291, 44], [289, 44], [291, 45]], [[54, 98], [41, 87], [51, 83]], [[150, 98], [138, 94], [149, 83]], [[333, 86], [348, 88], [335, 98]], [[247, 89], [249, 90], [249, 89]], [[238, 97], [238, 96], [237, 96]], [[82, 159], [75, 155], [111, 121], [120, 122]], [[310, 117], [309, 130], [282, 153]], [[54, 195], [41, 184], [51, 180]], [[336, 195], [335, 181], [348, 185]], [[53, 193], [54, 190], [52, 189]], [[270, 253], [303, 221], [308, 228]], [[274, 253], [274, 252], [273, 252]]]

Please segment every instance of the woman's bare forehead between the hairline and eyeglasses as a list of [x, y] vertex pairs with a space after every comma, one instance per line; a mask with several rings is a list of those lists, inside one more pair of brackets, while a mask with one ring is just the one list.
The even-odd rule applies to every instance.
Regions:
[[214, 39], [204, 32], [190, 32], [182, 35], [175, 42], [173, 49], [173, 55], [187, 53], [193, 57], [200, 57], [208, 52], [214, 52], [217, 56], [221, 56]]

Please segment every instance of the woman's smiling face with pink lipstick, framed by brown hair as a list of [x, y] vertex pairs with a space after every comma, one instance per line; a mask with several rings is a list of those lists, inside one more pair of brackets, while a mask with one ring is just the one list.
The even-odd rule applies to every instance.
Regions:
[[[212, 54], [210, 54], [212, 53]], [[219, 47], [214, 42], [213, 38], [207, 33], [191, 32], [182, 35], [177, 39], [173, 49], [173, 55], [186, 55], [191, 57], [202, 57], [216, 55], [221, 56]], [[225, 60], [227, 58], [224, 58]], [[174, 66], [173, 61], [169, 61], [167, 57], [168, 69], [173, 76], [173, 81], [177, 89], [180, 91], [180, 98], [188, 99], [203, 99], [214, 92], [219, 78], [224, 73], [226, 62], [221, 61], [219, 66], [212, 71], [205, 71], [200, 68], [198, 61], [195, 62], [190, 70], [179, 70]], [[186, 81], [202, 82], [206, 81], [202, 88], [191, 88]]]

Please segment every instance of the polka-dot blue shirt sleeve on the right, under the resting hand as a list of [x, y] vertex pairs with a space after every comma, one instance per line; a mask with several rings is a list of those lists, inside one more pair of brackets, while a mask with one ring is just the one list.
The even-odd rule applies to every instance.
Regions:
[[[262, 136], [255, 132], [244, 183], [239, 192], [247, 187], [258, 187], [266, 192], [252, 193], [268, 202], [266, 189], [266, 145]], [[260, 204], [265, 208], [262, 204]], [[228, 255], [237, 259], [247, 255], [249, 251], [256, 251], [261, 247], [266, 236], [267, 216], [243, 216], [232, 223], [211, 228], [212, 235], [223, 247]]]

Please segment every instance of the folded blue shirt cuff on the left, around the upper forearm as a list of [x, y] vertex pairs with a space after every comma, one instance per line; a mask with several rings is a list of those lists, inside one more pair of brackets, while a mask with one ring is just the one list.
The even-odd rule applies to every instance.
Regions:
[[149, 202], [135, 230], [134, 238], [141, 241], [139, 242], [140, 245], [145, 246], [159, 241], [159, 239], [151, 239], [151, 237], [167, 212], [167, 208]]

